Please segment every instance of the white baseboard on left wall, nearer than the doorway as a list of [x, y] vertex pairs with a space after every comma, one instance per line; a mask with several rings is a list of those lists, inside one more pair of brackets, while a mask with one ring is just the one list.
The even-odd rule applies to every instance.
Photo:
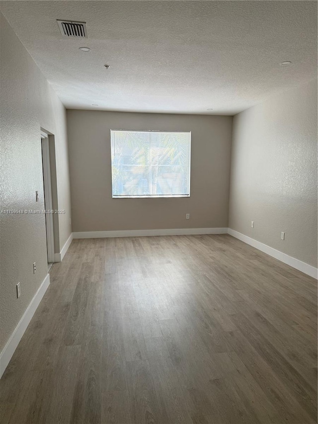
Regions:
[[22, 339], [22, 336], [27, 326], [29, 325], [49, 285], [50, 274], [47, 274], [44, 280], [42, 281], [42, 284], [38, 288], [38, 291], [35, 293], [33, 299], [31, 300], [29, 306], [27, 307], [26, 311], [24, 312], [22, 318], [20, 319], [19, 324], [15, 327], [10, 339], [7, 341], [2, 352], [0, 353], [0, 378], [2, 377], [2, 374], [5, 368], [7, 367], [8, 363], [10, 362], [10, 359], [15, 349], [17, 348], [17, 345]]

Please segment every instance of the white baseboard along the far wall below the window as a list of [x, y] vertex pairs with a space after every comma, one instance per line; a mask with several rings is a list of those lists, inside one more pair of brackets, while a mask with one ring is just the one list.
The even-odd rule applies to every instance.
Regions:
[[227, 234], [227, 228], [168, 228], [166, 230], [84, 231], [73, 233], [74, 239], [108, 237], [186, 236], [195, 234]]

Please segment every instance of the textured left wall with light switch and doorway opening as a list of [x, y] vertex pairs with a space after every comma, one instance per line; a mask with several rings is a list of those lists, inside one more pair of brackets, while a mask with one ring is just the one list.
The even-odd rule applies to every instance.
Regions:
[[[66, 210], [59, 217], [61, 248], [71, 234], [66, 111], [1, 13], [0, 29], [0, 209], [44, 209], [40, 127], [52, 132], [58, 206]], [[46, 274], [45, 215], [0, 214], [0, 350]]]

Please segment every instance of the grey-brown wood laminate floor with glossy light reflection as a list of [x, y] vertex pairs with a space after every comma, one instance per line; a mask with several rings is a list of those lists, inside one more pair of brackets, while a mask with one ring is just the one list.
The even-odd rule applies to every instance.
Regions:
[[317, 282], [228, 235], [74, 240], [0, 381], [10, 424], [317, 422]]

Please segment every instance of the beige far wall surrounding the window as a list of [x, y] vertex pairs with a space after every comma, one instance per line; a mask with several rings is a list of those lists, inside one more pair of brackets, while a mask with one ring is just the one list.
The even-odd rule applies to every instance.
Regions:
[[[228, 226], [231, 116], [68, 110], [67, 117], [73, 231]], [[191, 131], [191, 196], [112, 199], [110, 129]]]

